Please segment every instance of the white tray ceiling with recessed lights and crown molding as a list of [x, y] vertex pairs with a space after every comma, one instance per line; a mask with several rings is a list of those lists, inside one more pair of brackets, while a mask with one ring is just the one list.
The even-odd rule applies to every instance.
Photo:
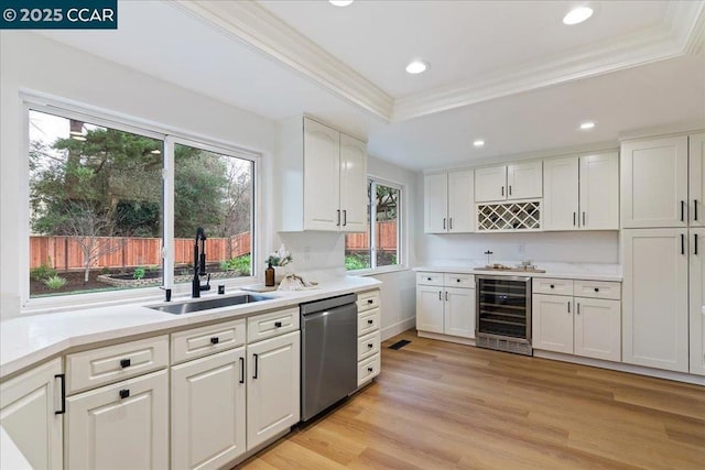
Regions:
[[[705, 127], [705, 2], [582, 3], [595, 14], [566, 26], [574, 1], [121, 0], [118, 31], [42, 34], [265, 118], [310, 113], [411, 170]], [[431, 67], [412, 76], [415, 57]]]

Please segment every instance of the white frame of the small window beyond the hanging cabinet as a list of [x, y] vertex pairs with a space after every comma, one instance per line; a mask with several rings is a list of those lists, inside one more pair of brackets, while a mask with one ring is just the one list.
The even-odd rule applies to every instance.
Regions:
[[[401, 183], [395, 183], [382, 177], [368, 175], [367, 183], [370, 185], [370, 190], [368, 192], [368, 207], [370, 210], [369, 214], [369, 232], [370, 232], [370, 264], [371, 267], [366, 267], [362, 270], [350, 270], [346, 271], [347, 274], [350, 275], [372, 275], [372, 274], [383, 274], [383, 273], [393, 273], [398, 271], [406, 271], [409, 267], [406, 265], [406, 217], [405, 217], [405, 199], [406, 199], [406, 187]], [[399, 190], [400, 197], [397, 201], [397, 264], [386, 265], [386, 266], [377, 266], [377, 244], [376, 240], [376, 220], [373, 219], [373, 214], [377, 212], [377, 206], [372, 204], [372, 195], [377, 194], [377, 185], [387, 186], [393, 189]], [[344, 253], [345, 254], [345, 253]]]

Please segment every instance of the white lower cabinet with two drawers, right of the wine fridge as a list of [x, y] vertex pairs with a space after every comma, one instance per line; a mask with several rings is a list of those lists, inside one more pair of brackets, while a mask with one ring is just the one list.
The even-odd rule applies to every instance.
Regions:
[[[566, 295], [543, 294], [551, 289]], [[534, 349], [620, 361], [619, 283], [534, 278], [533, 291]]]

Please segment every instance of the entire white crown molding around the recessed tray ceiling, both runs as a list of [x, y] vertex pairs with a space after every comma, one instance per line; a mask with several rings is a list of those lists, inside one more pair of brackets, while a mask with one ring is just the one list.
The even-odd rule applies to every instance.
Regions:
[[705, 42], [705, 1], [666, 7], [662, 24], [460, 84], [394, 99], [254, 1], [167, 2], [312, 79], [386, 122], [405, 121], [496, 98], [696, 54]]

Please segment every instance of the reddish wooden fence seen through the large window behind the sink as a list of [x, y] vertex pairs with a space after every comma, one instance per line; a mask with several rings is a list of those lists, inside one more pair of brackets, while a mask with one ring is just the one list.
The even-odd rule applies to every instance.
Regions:
[[[161, 238], [99, 237], [97, 242], [104, 254], [98, 256], [93, 269], [162, 264]], [[249, 252], [249, 232], [206, 240], [206, 254], [212, 261], [228, 260]], [[174, 253], [176, 264], [193, 263], [194, 239], [175, 239]], [[62, 271], [83, 269], [80, 244], [72, 237], [30, 237], [30, 269], [42, 264]]]

